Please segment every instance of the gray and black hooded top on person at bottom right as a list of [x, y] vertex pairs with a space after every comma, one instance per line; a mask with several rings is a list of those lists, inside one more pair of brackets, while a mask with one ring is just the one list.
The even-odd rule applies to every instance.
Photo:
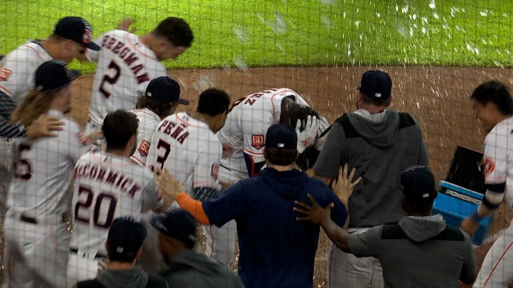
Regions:
[[456, 288], [460, 277], [475, 275], [477, 268], [470, 237], [446, 226], [440, 214], [406, 216], [349, 234], [349, 250], [380, 260], [385, 287]]

